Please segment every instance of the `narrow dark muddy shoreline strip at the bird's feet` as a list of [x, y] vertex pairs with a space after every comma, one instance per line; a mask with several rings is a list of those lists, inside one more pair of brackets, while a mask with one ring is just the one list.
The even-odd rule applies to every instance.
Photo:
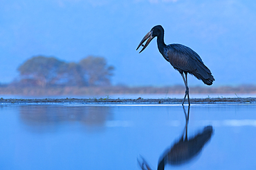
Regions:
[[[111, 105], [111, 104], [181, 104], [183, 98], [0, 98], [0, 105]], [[188, 99], [185, 100], [188, 105]], [[256, 104], [256, 98], [190, 98], [190, 104]]]

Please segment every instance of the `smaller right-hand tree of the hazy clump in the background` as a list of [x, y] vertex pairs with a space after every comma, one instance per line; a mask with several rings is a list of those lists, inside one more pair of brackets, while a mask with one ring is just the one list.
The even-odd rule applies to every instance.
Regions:
[[110, 78], [113, 76], [114, 67], [108, 66], [103, 57], [87, 56], [79, 64], [90, 86], [111, 85]]

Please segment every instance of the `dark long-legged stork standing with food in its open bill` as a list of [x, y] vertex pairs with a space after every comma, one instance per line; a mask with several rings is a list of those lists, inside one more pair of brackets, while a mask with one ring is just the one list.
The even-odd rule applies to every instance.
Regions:
[[[179, 43], [172, 43], [170, 45], [166, 45], [164, 42], [164, 29], [161, 25], [156, 25], [150, 30], [140, 41], [137, 49], [140, 45], [143, 49], [140, 52], [143, 52], [147, 45], [149, 45], [150, 41], [157, 37], [157, 46], [159, 52], [163, 55], [163, 58], [169, 62], [175, 70], [177, 70], [184, 81], [185, 84], [185, 96], [183, 99], [182, 105], [185, 103], [185, 98], [188, 96], [188, 105], [190, 105], [190, 94], [188, 88], [188, 73], [192, 74], [199, 80], [203, 81], [205, 85], [212, 85], [212, 82], [215, 81], [212, 73], [206, 67], [199, 56], [194, 50], [190, 47]], [[143, 43], [147, 40], [145, 45]], [[140, 53], [139, 52], [139, 53]], [[185, 75], [185, 76], [184, 76]]]

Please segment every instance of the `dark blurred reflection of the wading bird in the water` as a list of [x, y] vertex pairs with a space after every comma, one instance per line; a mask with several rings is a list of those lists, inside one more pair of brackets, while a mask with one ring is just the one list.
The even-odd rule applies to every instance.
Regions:
[[[188, 119], [190, 107], [188, 107], [188, 114], [186, 114], [184, 107], [183, 110], [186, 120], [183, 134], [178, 142], [174, 143], [170, 149], [167, 149], [163, 153], [163, 156], [161, 156], [158, 162], [158, 170], [165, 169], [166, 164], [181, 165], [189, 162], [192, 160], [192, 158], [200, 153], [205, 143], [208, 142], [212, 137], [212, 126], [209, 125], [204, 127], [203, 130], [196, 134], [194, 137], [188, 139]], [[138, 160], [141, 169], [151, 169], [149, 164], [147, 164], [147, 162], [142, 157], [141, 159], [141, 161]]]

